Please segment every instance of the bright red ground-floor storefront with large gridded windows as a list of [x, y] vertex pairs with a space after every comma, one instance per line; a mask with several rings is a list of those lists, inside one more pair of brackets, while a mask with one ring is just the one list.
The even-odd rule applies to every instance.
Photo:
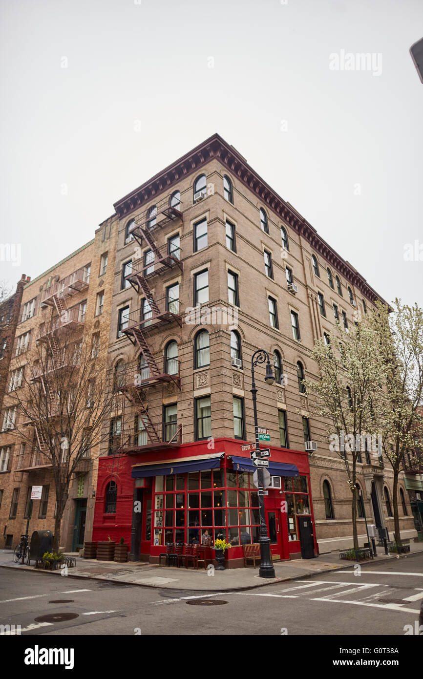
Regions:
[[[92, 540], [110, 536], [119, 542], [124, 537], [130, 558], [156, 563], [167, 542], [201, 544], [209, 535], [213, 547], [219, 536], [232, 543], [227, 566], [243, 566], [242, 544], [259, 541], [251, 457], [235, 439], [214, 439], [213, 445], [196, 441], [163, 451], [100, 458]], [[271, 464], [294, 465], [298, 471], [289, 472], [295, 476], [281, 474], [280, 488], [269, 488], [265, 496], [273, 558], [300, 558], [301, 551], [304, 557], [316, 556], [308, 454], [268, 447]], [[134, 478], [137, 474], [142, 476]]]

